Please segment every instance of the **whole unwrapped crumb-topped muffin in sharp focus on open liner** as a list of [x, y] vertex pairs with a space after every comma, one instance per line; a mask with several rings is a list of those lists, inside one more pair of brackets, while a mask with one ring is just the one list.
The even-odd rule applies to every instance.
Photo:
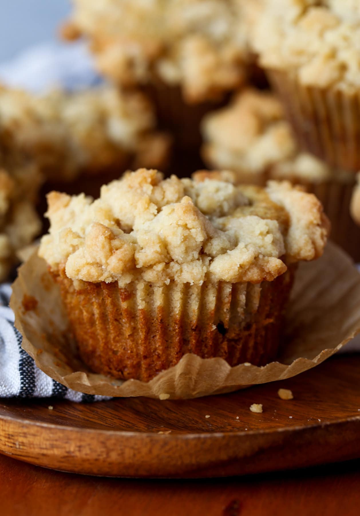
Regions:
[[84, 195], [48, 196], [39, 250], [84, 362], [149, 380], [188, 352], [230, 365], [277, 353], [296, 263], [320, 256], [320, 202], [288, 182], [163, 180], [140, 169]]

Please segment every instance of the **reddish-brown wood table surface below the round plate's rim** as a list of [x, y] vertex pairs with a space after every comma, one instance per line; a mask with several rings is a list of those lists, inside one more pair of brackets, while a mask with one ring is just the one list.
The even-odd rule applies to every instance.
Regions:
[[357, 516], [360, 461], [205, 480], [136, 480], [46, 470], [0, 455], [2, 516]]

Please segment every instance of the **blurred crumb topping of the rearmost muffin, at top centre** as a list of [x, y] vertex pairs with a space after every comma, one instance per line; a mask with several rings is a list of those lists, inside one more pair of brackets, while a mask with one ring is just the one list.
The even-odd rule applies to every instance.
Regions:
[[112, 79], [160, 77], [180, 85], [187, 102], [201, 102], [243, 82], [246, 20], [258, 2], [251, 9], [248, 0], [74, 0], [70, 32], [90, 36], [100, 71]]

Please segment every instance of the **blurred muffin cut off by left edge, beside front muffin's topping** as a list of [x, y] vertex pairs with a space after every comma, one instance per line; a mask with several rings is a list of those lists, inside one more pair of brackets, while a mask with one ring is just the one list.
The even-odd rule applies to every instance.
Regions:
[[[31, 243], [41, 230], [32, 195], [31, 177], [24, 170], [9, 174], [0, 169], [0, 281], [8, 279], [13, 265], [18, 263], [16, 252]], [[26, 185], [29, 185], [27, 190]]]

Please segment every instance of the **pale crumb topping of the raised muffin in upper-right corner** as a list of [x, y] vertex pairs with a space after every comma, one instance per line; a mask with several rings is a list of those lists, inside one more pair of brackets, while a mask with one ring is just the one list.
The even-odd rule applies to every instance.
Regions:
[[305, 86], [360, 85], [357, 0], [268, 0], [251, 42], [263, 66], [295, 73]]

